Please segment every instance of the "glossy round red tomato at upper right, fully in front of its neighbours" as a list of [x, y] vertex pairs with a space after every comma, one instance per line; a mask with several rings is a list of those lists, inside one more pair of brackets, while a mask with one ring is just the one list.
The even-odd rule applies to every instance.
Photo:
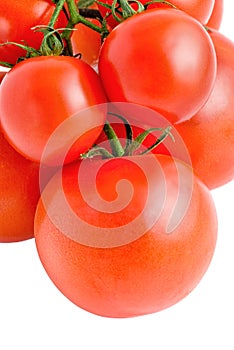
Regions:
[[207, 101], [216, 55], [198, 21], [179, 10], [152, 9], [109, 34], [100, 51], [99, 73], [110, 101], [141, 104], [177, 122]]

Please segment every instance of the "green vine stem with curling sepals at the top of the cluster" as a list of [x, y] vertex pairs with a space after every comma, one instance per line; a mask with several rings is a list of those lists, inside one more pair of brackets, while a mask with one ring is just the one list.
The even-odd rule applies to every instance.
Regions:
[[[81, 0], [78, 3], [75, 0], [53, 0], [53, 3], [55, 4], [55, 9], [49, 23], [47, 25], [37, 25], [31, 28], [34, 31], [41, 31], [44, 34], [39, 49], [35, 49], [26, 43], [12, 41], [0, 44], [0, 46], [15, 45], [26, 51], [25, 56], [19, 57], [16, 63], [35, 56], [73, 56], [71, 36], [73, 31], [76, 30], [75, 26], [79, 23], [99, 33], [103, 41], [110, 33], [106, 20], [110, 14], [119, 23], [128, 17], [145, 11], [148, 6], [153, 3], [162, 3], [175, 8], [172, 3], [164, 0], [152, 0], [145, 4], [138, 0], [113, 0], [111, 5], [99, 0]], [[109, 14], [107, 13], [106, 16], [102, 16], [98, 9], [90, 8], [93, 4], [104, 6], [109, 10]], [[134, 9], [135, 6], [133, 5], [136, 5], [137, 8]], [[55, 23], [61, 12], [66, 16], [67, 24], [64, 28], [55, 29]], [[93, 23], [90, 19], [97, 19], [100, 25]], [[14, 64], [5, 61], [1, 61], [0, 65], [8, 68], [14, 66]]]

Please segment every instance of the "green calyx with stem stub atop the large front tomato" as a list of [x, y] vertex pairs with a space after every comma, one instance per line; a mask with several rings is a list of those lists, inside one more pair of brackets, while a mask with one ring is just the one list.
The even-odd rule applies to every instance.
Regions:
[[[88, 150], [86, 153], [81, 155], [81, 159], [87, 159], [87, 158], [93, 158], [93, 157], [101, 157], [102, 159], [107, 159], [107, 158], [116, 158], [116, 157], [133, 156], [133, 155], [144, 155], [154, 150], [168, 136], [171, 137], [172, 141], [175, 141], [171, 133], [171, 128], [172, 128], [171, 126], [167, 126], [165, 128], [159, 128], [159, 127], [149, 128], [141, 132], [135, 138], [133, 138], [132, 127], [126, 118], [112, 112], [108, 112], [108, 114], [119, 118], [123, 122], [125, 131], [126, 131], [126, 139], [124, 139], [125, 145], [124, 146], [122, 145], [114, 128], [111, 126], [111, 124], [108, 121], [106, 121], [103, 127], [103, 131], [108, 139], [111, 151], [109, 151], [107, 148], [102, 147], [98, 144], [94, 144], [94, 146], [90, 150]], [[140, 153], [136, 153], [137, 150], [142, 145], [143, 141], [146, 139], [146, 137], [153, 131], [160, 131], [161, 135], [156, 139], [156, 141], [151, 146], [145, 148], [143, 151], [140, 151]]]

